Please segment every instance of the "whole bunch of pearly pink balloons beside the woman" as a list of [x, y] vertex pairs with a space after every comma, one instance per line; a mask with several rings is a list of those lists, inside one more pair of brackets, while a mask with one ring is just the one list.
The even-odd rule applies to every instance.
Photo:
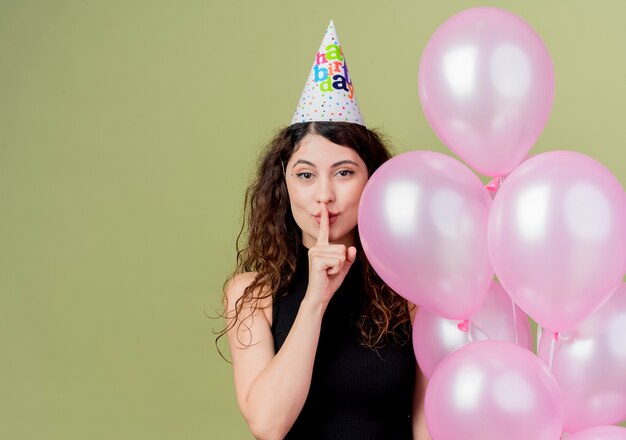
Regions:
[[554, 96], [541, 38], [507, 11], [462, 11], [428, 42], [418, 85], [443, 143], [499, 186], [411, 151], [361, 199], [368, 259], [419, 306], [432, 438], [626, 440], [603, 426], [626, 419], [626, 195], [586, 155], [527, 157]]

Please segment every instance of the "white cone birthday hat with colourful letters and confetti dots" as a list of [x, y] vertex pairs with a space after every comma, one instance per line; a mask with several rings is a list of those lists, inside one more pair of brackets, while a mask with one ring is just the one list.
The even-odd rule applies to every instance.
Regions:
[[332, 20], [315, 56], [313, 68], [291, 124], [310, 121], [352, 122], [365, 125]]

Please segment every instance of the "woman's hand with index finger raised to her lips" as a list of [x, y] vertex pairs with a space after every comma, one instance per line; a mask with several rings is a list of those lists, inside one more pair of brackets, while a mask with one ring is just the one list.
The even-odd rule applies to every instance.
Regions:
[[346, 249], [342, 244], [328, 243], [329, 231], [328, 208], [322, 203], [317, 243], [309, 249], [309, 286], [305, 298], [324, 306], [341, 286], [356, 259], [354, 246]]

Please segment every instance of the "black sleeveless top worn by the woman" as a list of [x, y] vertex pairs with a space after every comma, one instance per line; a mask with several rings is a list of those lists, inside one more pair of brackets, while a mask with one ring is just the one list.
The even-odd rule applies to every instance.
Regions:
[[[276, 352], [293, 325], [308, 284], [307, 249], [301, 247], [288, 293], [273, 305]], [[393, 338], [374, 351], [361, 345], [356, 322], [365, 301], [362, 267], [355, 262], [324, 314], [311, 387], [285, 439], [412, 439], [415, 383], [412, 344]], [[409, 334], [410, 334], [409, 330]]]

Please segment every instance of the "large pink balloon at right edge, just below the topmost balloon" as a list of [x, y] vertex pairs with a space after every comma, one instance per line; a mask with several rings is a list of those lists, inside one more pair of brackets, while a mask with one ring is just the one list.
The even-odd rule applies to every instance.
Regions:
[[599, 162], [573, 151], [517, 167], [489, 216], [491, 261], [507, 293], [552, 331], [605, 302], [626, 269], [626, 195]]

